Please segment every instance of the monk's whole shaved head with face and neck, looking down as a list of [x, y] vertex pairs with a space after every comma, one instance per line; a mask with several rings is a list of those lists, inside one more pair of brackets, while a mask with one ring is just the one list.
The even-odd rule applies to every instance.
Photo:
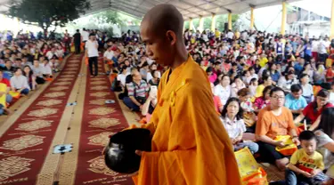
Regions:
[[171, 4], [159, 4], [145, 14], [141, 37], [146, 53], [163, 66], [174, 68], [188, 58], [183, 42], [183, 16]]

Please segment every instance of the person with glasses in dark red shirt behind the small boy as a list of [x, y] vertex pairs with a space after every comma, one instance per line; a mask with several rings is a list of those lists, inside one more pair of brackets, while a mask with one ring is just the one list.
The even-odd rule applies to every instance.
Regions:
[[316, 98], [313, 102], [309, 103], [301, 114], [296, 117], [294, 120], [295, 124], [299, 124], [304, 118], [308, 119], [311, 122], [311, 127], [308, 130], [314, 131], [318, 127], [322, 110], [326, 108], [334, 107], [329, 101], [330, 93], [322, 89], [319, 93], [316, 94]]

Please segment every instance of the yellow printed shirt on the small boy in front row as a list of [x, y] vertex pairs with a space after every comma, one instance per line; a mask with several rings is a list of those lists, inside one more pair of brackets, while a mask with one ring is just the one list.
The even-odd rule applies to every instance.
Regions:
[[323, 165], [322, 154], [314, 151], [312, 156], [308, 156], [304, 149], [298, 149], [292, 154], [290, 158], [290, 163], [296, 165], [299, 169], [311, 173], [315, 169], [323, 170], [325, 166]]

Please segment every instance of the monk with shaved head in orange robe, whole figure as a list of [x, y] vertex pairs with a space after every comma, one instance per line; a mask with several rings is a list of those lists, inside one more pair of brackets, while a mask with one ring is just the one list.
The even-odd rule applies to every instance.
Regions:
[[207, 74], [183, 43], [183, 17], [171, 4], [143, 18], [146, 52], [169, 69], [161, 77], [151, 122], [151, 152], [134, 176], [140, 185], [239, 185], [240, 174], [224, 126], [216, 115]]

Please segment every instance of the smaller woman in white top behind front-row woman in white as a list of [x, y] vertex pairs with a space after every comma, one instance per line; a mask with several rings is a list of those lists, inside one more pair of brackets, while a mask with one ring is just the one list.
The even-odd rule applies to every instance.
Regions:
[[231, 97], [232, 94], [230, 82], [230, 76], [224, 75], [220, 83], [217, 84], [215, 87], [215, 95], [220, 98], [220, 101], [222, 101], [223, 105]]

